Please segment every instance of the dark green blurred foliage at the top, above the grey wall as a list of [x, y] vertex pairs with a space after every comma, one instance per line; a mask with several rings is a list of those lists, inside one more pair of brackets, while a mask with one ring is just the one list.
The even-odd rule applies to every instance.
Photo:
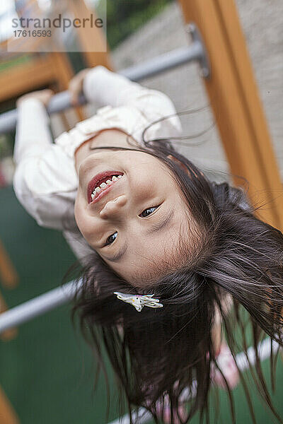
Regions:
[[107, 37], [114, 49], [173, 0], [108, 0]]

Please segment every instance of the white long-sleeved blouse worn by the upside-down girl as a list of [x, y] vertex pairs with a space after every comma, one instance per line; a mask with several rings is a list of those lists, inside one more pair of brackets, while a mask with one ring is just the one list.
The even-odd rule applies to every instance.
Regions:
[[66, 219], [74, 221], [74, 201], [78, 188], [74, 153], [81, 143], [103, 129], [121, 129], [142, 143], [142, 132], [151, 122], [145, 139], [180, 136], [180, 119], [173, 102], [158, 90], [145, 88], [96, 66], [86, 74], [83, 93], [88, 102], [100, 108], [96, 114], [65, 131], [52, 143], [50, 118], [37, 99], [26, 99], [18, 107], [13, 160], [16, 172], [13, 189], [18, 200], [37, 223], [62, 230], [74, 253], [82, 259], [91, 251], [82, 235], [66, 228]]

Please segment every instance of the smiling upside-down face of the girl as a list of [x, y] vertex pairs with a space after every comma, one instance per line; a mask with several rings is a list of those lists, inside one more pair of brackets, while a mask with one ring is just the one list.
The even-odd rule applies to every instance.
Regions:
[[[100, 257], [126, 281], [137, 284], [144, 281], [143, 275], [160, 276], [166, 266], [174, 266], [187, 215], [166, 165], [140, 151], [101, 149], [88, 150], [76, 160], [76, 168], [76, 223]], [[106, 187], [92, 200], [93, 177], [100, 179], [100, 173], [108, 171], [122, 177], [111, 183], [108, 177]]]

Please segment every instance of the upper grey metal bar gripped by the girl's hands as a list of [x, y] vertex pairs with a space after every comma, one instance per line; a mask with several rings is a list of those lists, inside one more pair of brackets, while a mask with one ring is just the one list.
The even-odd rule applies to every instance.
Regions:
[[[126, 76], [132, 81], [141, 81], [141, 79], [155, 76], [157, 73], [168, 71], [190, 61], [201, 60], [203, 55], [202, 43], [199, 40], [195, 40], [189, 47], [180, 47], [154, 57], [154, 59], [149, 59], [142, 64], [117, 71], [117, 73]], [[83, 95], [80, 96], [79, 102], [81, 105], [86, 104], [86, 99]], [[62, 112], [69, 107], [73, 106], [70, 102], [69, 91], [66, 90], [53, 96], [47, 107], [47, 112], [50, 114]], [[9, 112], [0, 114], [0, 134], [13, 131], [16, 128], [16, 122], [17, 110], [10, 110]]]

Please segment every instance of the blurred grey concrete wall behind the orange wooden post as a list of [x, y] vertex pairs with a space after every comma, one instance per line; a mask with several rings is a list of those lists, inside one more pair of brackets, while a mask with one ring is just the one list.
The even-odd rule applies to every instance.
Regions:
[[[236, 3], [283, 177], [283, 1], [237, 0]], [[173, 3], [122, 42], [112, 52], [112, 60], [115, 69], [122, 69], [187, 45], [187, 42], [183, 16], [178, 4]], [[208, 105], [195, 64], [144, 80], [143, 84], [168, 94], [178, 111]], [[214, 125], [209, 108], [186, 115], [182, 118], [182, 124], [184, 134], [188, 136], [204, 129], [208, 131], [204, 136], [188, 140], [187, 146], [180, 146], [180, 150], [200, 165], [210, 177], [227, 179], [229, 166], [217, 129], [215, 126], [209, 129]]]

